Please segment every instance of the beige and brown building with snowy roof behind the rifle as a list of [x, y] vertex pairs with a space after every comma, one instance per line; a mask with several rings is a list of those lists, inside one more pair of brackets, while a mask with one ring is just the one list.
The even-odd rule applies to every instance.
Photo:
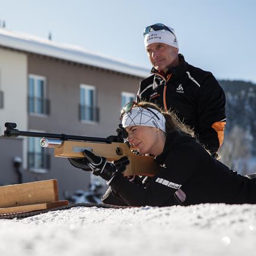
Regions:
[[[0, 28], [0, 133], [5, 122], [33, 132], [107, 137], [116, 134], [119, 111], [136, 95], [149, 70], [32, 35]], [[64, 193], [88, 188], [90, 173], [54, 157], [37, 138], [0, 137], [0, 185], [57, 179]]]

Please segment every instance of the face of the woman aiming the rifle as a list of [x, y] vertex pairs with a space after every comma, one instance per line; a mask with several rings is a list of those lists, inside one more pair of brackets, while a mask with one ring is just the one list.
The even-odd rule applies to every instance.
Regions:
[[155, 155], [157, 137], [159, 130], [149, 126], [130, 126], [126, 128], [128, 141], [133, 149], [138, 150], [140, 154], [147, 153]]

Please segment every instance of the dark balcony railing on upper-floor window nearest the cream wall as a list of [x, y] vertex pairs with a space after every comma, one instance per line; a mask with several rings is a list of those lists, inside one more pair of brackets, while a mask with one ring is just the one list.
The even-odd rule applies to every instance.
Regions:
[[28, 113], [50, 114], [50, 101], [45, 98], [28, 97]]

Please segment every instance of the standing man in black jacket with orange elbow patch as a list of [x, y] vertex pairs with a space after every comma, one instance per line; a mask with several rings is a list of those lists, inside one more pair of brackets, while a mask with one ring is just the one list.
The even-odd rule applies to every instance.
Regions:
[[186, 63], [174, 29], [163, 24], [145, 28], [144, 42], [152, 76], [141, 81], [137, 101], [151, 101], [175, 111], [212, 156], [224, 140], [225, 94], [212, 73]]

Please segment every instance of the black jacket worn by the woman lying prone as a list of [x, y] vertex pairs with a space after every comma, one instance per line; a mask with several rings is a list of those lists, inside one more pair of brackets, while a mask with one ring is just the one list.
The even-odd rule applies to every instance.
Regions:
[[117, 173], [112, 191], [131, 206], [204, 203], [256, 204], [256, 180], [238, 175], [209, 155], [190, 136], [167, 134], [162, 166], [147, 185], [136, 185]]

